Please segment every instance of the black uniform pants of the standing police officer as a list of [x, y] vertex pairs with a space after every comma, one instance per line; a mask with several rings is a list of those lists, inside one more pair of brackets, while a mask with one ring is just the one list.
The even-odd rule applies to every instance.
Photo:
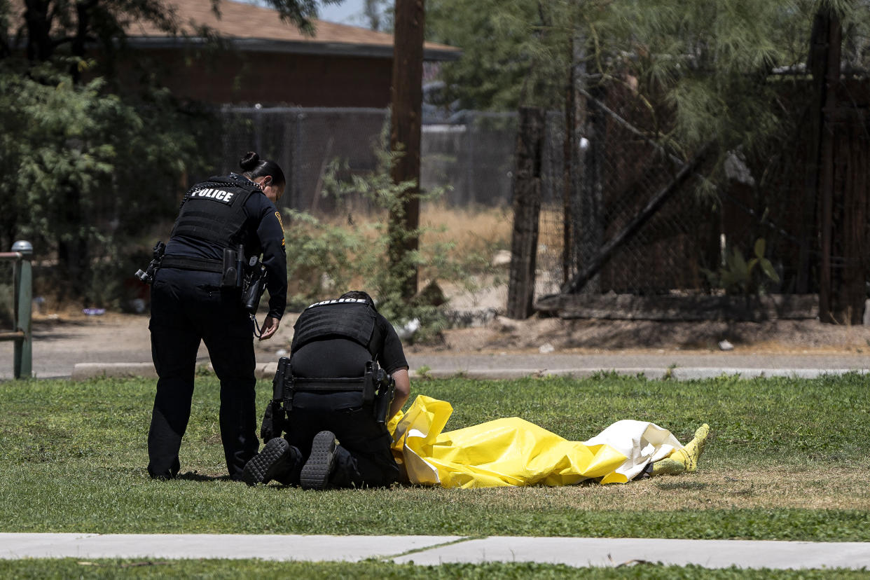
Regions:
[[251, 319], [219, 284], [216, 273], [164, 268], [151, 286], [151, 357], [159, 377], [148, 431], [152, 477], [174, 477], [180, 468], [200, 340], [220, 379], [220, 434], [230, 476], [241, 477], [257, 453]]

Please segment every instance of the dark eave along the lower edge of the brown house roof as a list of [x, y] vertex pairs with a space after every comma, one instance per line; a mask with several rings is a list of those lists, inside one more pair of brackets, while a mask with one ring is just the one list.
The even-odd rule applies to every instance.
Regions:
[[[342, 57], [392, 58], [389, 44], [323, 43], [292, 40], [268, 40], [264, 38], [227, 38], [234, 49], [242, 52], [278, 52]], [[203, 37], [127, 37], [126, 42], [137, 49], [175, 49], [189, 44], [204, 44]], [[462, 56], [461, 50], [425, 49], [426, 61], [455, 61]]]

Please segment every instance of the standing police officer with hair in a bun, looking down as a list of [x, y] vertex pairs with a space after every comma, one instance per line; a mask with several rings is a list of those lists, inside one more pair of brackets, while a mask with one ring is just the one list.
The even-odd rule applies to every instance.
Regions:
[[[277, 163], [250, 152], [243, 174], [210, 177], [184, 196], [151, 285], [151, 357], [157, 395], [148, 431], [151, 477], [176, 477], [191, 417], [197, 350], [203, 340], [220, 379], [220, 433], [230, 477], [239, 479], [258, 450], [253, 327], [238, 288], [238, 263], [263, 255], [269, 314], [260, 340], [278, 330], [287, 301], [284, 228], [275, 202], [284, 193]], [[244, 256], [229, 260], [226, 250]], [[230, 267], [228, 271], [228, 267]]]

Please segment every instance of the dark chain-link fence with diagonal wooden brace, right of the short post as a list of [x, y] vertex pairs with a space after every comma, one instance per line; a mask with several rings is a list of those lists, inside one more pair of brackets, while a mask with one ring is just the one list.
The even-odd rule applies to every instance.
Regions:
[[[598, 274], [572, 291], [753, 292], [759, 285], [768, 292], [818, 291], [819, 208], [813, 183], [806, 182], [809, 103], [800, 88], [782, 96], [793, 118], [784, 119], [782, 133], [752, 158], [740, 150], [712, 154], [679, 184], [675, 176], [684, 162], [653, 139], [660, 125], [631, 93], [611, 89], [588, 99], [589, 120], [580, 125], [576, 157], [566, 144], [566, 115], [550, 113], [538, 255], [545, 288], [556, 291], [607, 244], [624, 239]], [[857, 132], [867, 139], [866, 128]], [[572, 158], [574, 184], [566, 183], [566, 159]], [[664, 203], [647, 212], [658, 197]], [[834, 203], [837, 211], [843, 210]], [[639, 228], [630, 227], [638, 221]], [[759, 263], [757, 248], [775, 277], [761, 267], [747, 268]], [[733, 259], [735, 252], [739, 259]]]

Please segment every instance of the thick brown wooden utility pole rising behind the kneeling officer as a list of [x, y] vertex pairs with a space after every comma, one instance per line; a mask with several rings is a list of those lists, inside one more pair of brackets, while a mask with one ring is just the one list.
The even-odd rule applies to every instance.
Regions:
[[417, 250], [420, 223], [420, 123], [423, 109], [424, 0], [396, 0], [392, 58], [392, 119], [390, 149], [393, 183], [413, 183], [390, 212], [390, 267], [402, 280], [405, 299], [417, 293], [417, 266], [405, 259]]

